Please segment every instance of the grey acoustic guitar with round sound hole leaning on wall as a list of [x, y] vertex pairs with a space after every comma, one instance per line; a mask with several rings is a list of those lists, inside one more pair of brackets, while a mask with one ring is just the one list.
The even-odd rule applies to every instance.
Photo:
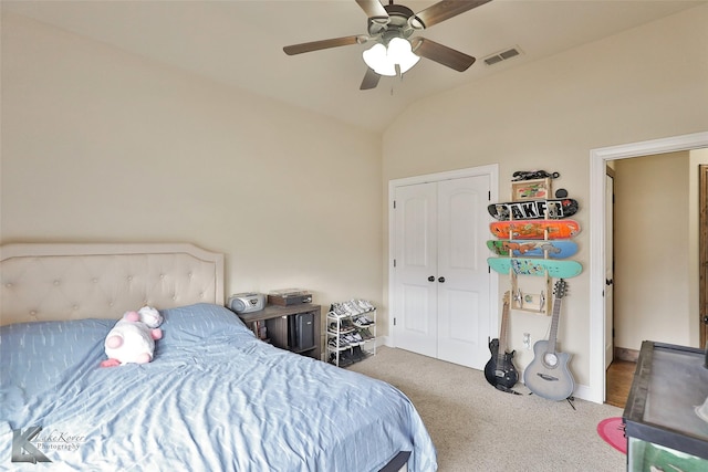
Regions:
[[568, 368], [571, 356], [556, 348], [558, 321], [565, 289], [563, 279], [555, 283], [549, 340], [539, 340], [533, 345], [533, 360], [523, 371], [523, 382], [529, 390], [549, 400], [565, 400], [573, 395], [575, 388], [573, 375]]

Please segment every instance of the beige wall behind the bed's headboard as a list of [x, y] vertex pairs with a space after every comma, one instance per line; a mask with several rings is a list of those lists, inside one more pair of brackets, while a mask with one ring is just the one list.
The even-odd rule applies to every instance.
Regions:
[[187, 241], [227, 293], [381, 303], [381, 138], [11, 13], [0, 241]]

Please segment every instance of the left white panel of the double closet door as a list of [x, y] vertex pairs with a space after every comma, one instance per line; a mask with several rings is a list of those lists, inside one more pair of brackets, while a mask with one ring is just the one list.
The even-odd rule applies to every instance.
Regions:
[[437, 357], [437, 183], [399, 187], [395, 201], [396, 347]]

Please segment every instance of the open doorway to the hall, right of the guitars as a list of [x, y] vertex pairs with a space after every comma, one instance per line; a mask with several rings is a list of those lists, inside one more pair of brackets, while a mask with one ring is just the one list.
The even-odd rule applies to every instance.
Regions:
[[606, 182], [605, 198], [605, 401], [621, 408], [644, 339], [693, 345], [686, 337], [689, 328], [697, 337], [690, 306], [696, 296], [688, 293], [697, 286], [688, 270], [689, 253], [697, 248], [688, 227], [698, 214], [698, 200], [687, 185], [697, 170], [690, 161], [691, 153], [678, 151], [611, 162], [615, 178]]

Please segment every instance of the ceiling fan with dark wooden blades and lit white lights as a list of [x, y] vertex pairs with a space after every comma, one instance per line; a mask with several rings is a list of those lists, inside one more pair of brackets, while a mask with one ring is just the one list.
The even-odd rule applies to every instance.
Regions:
[[361, 90], [375, 88], [382, 75], [402, 75], [415, 65], [419, 57], [464, 72], [475, 63], [475, 57], [426, 38], [413, 36], [413, 33], [490, 1], [444, 0], [414, 13], [408, 7], [394, 4], [393, 0], [389, 0], [387, 6], [383, 6], [379, 0], [356, 0], [368, 15], [368, 34], [293, 44], [284, 46], [283, 51], [288, 55], [294, 55], [374, 41], [376, 44], [363, 54], [368, 69]]

